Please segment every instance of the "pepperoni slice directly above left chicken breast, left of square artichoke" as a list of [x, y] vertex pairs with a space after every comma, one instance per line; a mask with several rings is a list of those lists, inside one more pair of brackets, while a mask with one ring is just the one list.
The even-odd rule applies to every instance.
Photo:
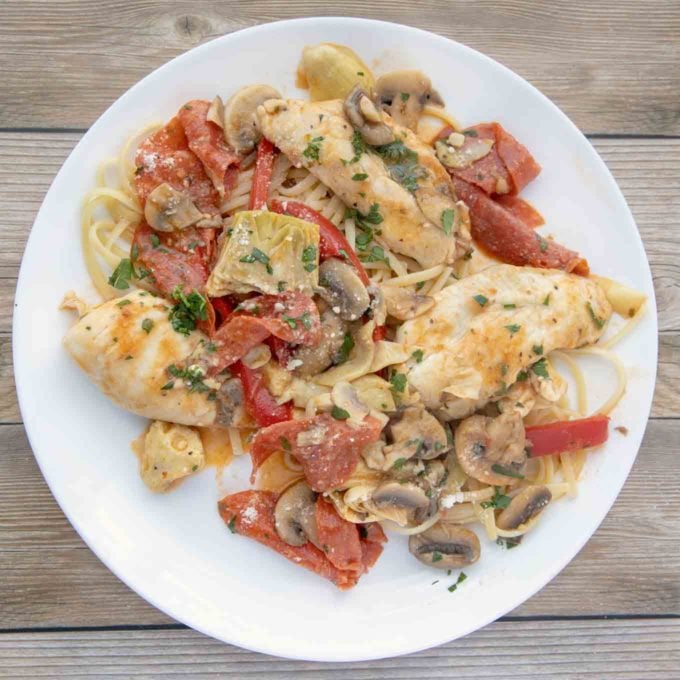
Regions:
[[132, 240], [132, 259], [137, 272], [147, 273], [147, 280], [169, 297], [175, 286], [186, 292], [203, 288], [214, 244], [214, 229], [189, 227], [160, 233], [142, 222]]

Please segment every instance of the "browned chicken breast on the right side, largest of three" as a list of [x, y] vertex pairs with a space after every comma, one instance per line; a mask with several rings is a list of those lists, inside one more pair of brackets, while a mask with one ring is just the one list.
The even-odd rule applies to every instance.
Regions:
[[445, 288], [397, 339], [423, 350], [409, 385], [443, 417], [463, 418], [510, 385], [549, 373], [542, 357], [595, 342], [611, 316], [604, 291], [553, 269], [497, 265]]

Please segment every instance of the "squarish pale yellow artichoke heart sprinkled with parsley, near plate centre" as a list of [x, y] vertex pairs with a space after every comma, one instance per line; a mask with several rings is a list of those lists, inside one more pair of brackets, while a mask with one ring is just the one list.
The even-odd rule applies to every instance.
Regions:
[[252, 291], [311, 295], [319, 283], [319, 228], [266, 210], [234, 215], [206, 291], [211, 297]]

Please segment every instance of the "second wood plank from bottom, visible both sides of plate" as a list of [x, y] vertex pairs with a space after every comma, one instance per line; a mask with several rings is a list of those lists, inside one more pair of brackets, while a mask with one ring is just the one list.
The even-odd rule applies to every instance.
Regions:
[[[651, 421], [609, 516], [578, 557], [513, 614], [680, 614], [680, 420]], [[2, 626], [168, 623], [82, 543], [40, 477], [20, 426], [0, 427]], [[663, 568], [659, 568], [663, 565]]]

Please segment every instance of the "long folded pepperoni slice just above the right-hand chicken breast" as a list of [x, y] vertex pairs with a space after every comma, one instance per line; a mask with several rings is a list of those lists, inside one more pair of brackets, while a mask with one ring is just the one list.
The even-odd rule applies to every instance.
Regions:
[[470, 208], [472, 238], [503, 262], [588, 275], [588, 262], [578, 253], [549, 241], [483, 191], [453, 177], [458, 196]]

